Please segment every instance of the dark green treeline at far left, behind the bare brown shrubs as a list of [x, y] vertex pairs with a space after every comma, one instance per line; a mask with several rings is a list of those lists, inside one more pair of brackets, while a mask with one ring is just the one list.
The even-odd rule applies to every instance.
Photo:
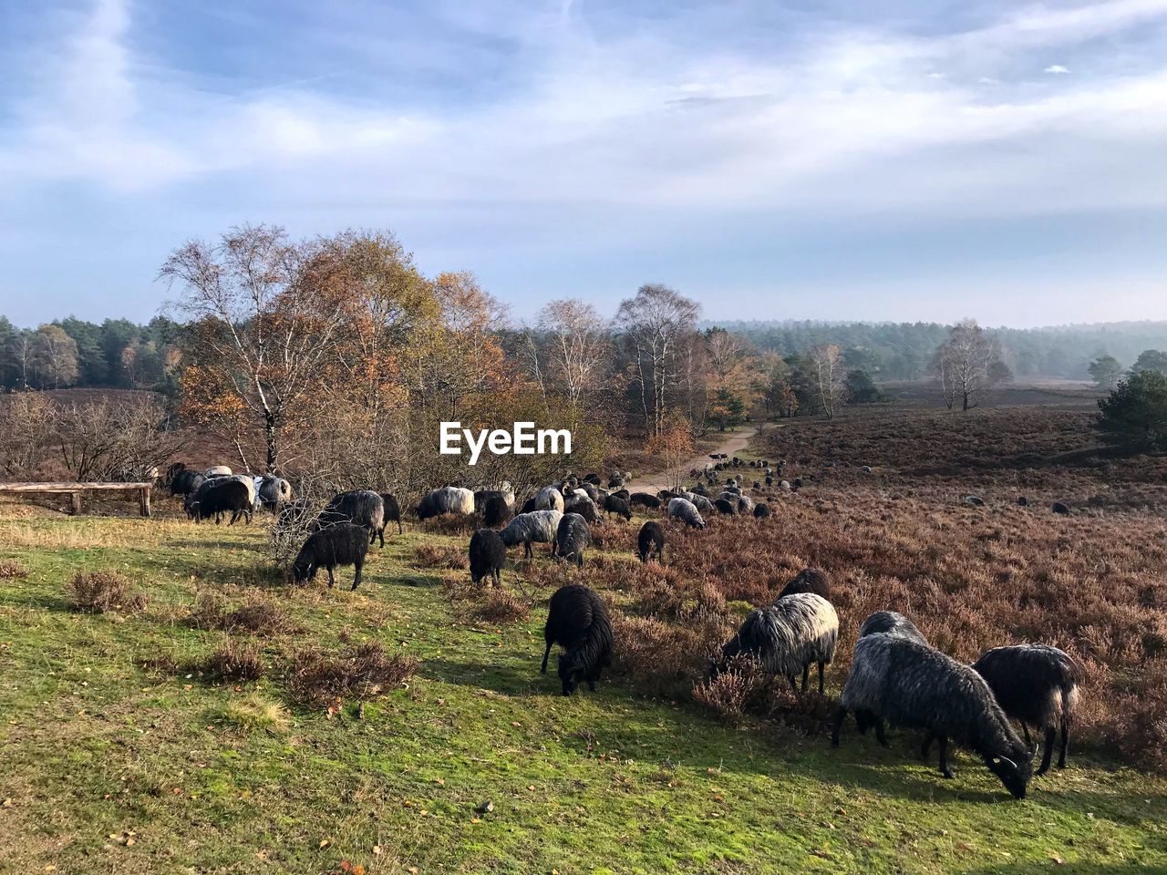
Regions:
[[162, 316], [145, 326], [69, 316], [35, 329], [0, 316], [0, 388], [149, 388], [173, 394], [181, 327]]

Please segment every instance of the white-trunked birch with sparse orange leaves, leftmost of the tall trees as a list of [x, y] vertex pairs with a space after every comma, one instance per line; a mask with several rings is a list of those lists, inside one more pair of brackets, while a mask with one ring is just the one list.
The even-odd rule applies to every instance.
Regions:
[[327, 242], [292, 244], [281, 228], [244, 225], [214, 245], [187, 243], [160, 272], [182, 289], [175, 307], [191, 318], [188, 412], [257, 426], [270, 474], [279, 470], [291, 414], [317, 387], [348, 304], [340, 256]]

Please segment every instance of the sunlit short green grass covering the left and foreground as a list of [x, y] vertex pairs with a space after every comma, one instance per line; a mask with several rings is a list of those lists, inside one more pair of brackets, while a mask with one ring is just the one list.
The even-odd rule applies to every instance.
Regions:
[[[1167, 870], [1167, 780], [1113, 763], [1071, 756], [1018, 803], [965, 754], [942, 779], [910, 734], [831, 750], [619, 678], [564, 699], [538, 672], [545, 604], [459, 622], [410, 565], [424, 539], [464, 540], [394, 536], [357, 593], [288, 590], [256, 573], [259, 526], [0, 518], [0, 561], [27, 570], [0, 579], [0, 873]], [[151, 602], [74, 612], [79, 569], [120, 570]], [[259, 639], [261, 681], [209, 682], [187, 666], [224, 634], [187, 609], [254, 586], [302, 629]], [[422, 660], [407, 688], [331, 718], [287, 700], [298, 649], [372, 638]], [[144, 667], [162, 656], [183, 667]]]

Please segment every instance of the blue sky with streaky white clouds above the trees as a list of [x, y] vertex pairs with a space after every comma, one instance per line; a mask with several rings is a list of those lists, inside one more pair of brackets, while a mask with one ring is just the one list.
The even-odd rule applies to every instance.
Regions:
[[0, 5], [0, 314], [389, 229], [517, 321], [1167, 317], [1167, 0]]

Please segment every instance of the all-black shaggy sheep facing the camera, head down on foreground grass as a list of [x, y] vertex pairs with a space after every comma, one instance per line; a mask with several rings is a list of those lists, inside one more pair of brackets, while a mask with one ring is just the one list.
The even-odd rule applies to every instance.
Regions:
[[565, 651], [559, 657], [564, 695], [574, 693], [585, 680], [594, 693], [600, 673], [612, 665], [612, 623], [600, 596], [579, 584], [557, 589], [551, 596], [543, 637], [547, 649], [543, 652], [540, 673], [547, 673], [551, 646], [558, 643]]

